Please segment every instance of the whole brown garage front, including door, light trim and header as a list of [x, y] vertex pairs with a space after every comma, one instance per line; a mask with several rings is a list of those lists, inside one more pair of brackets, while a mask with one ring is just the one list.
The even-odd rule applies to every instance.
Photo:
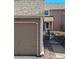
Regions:
[[14, 25], [15, 55], [39, 56], [40, 18], [15, 18]]

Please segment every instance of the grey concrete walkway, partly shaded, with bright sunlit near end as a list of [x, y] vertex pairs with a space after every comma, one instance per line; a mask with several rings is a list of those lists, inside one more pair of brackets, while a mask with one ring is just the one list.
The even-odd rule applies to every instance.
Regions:
[[65, 59], [65, 48], [58, 42], [50, 40], [56, 59]]

